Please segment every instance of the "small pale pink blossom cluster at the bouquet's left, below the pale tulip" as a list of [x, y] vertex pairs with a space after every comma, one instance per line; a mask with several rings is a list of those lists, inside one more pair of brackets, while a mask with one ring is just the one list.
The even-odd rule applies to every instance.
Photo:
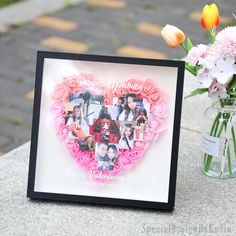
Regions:
[[200, 58], [205, 58], [208, 55], [207, 46], [204, 44], [199, 44], [196, 47], [193, 47], [188, 55], [187, 62], [191, 66], [196, 66]]

